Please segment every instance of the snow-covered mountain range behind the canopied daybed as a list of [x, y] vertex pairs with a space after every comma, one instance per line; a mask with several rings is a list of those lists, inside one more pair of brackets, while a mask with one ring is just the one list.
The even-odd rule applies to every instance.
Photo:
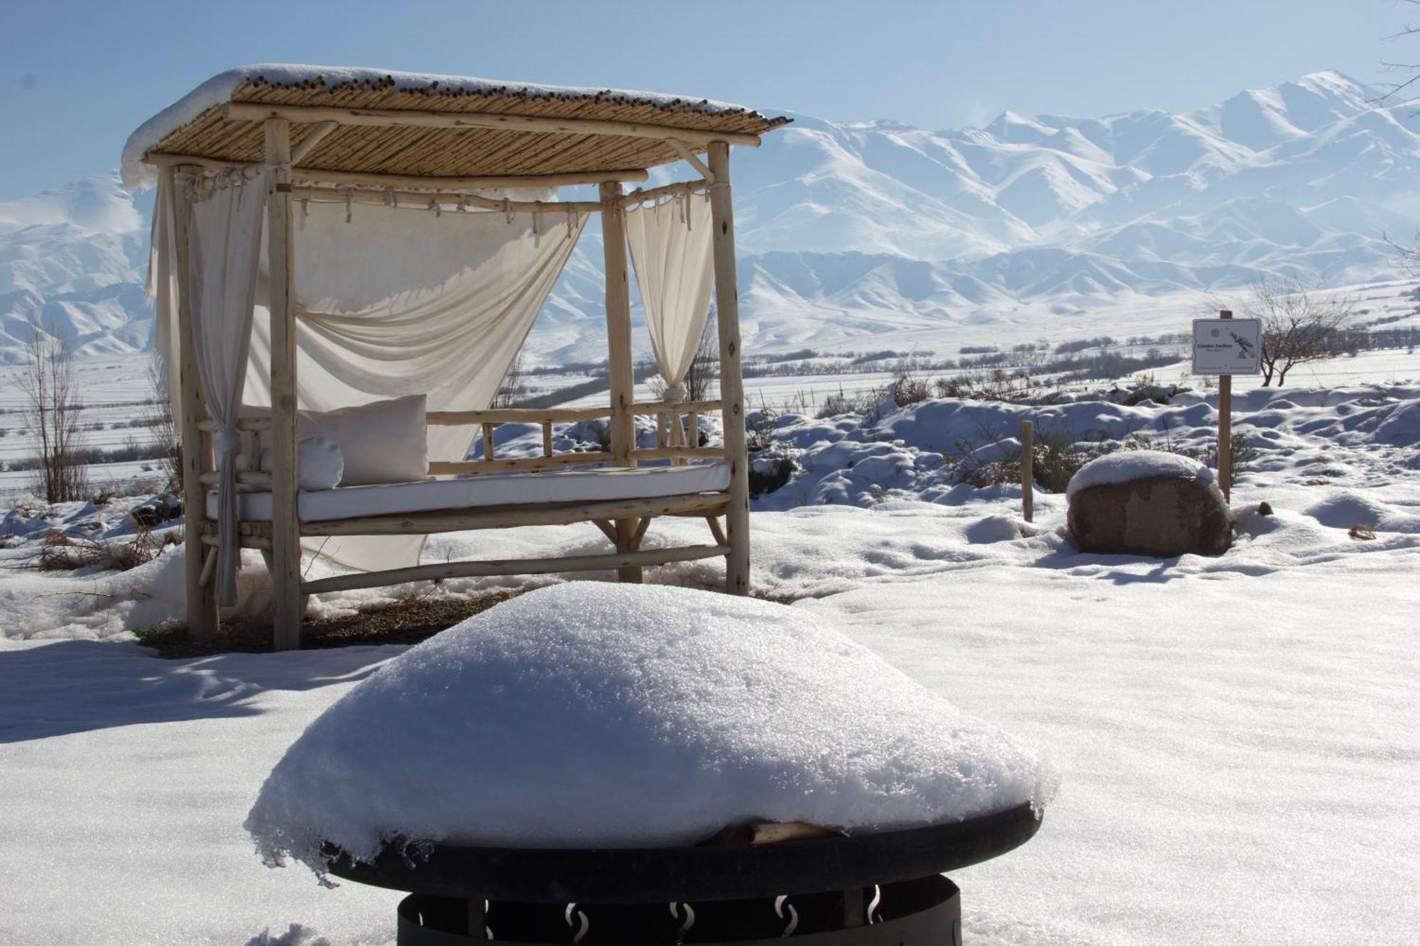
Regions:
[[[1120, 297], [1393, 277], [1420, 219], [1420, 125], [1339, 72], [1176, 115], [1005, 112], [985, 128], [797, 115], [736, 163], [747, 344], [1071, 314]], [[105, 175], [0, 205], [0, 358], [38, 318], [142, 347], [146, 224]], [[595, 223], [594, 223], [595, 226]], [[532, 337], [605, 357], [595, 230]]]

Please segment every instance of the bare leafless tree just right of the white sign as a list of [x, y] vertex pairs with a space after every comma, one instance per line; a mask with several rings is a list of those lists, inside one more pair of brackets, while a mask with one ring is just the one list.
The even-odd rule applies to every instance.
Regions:
[[1323, 293], [1292, 278], [1261, 278], [1252, 283], [1240, 314], [1262, 321], [1262, 386], [1309, 361], [1346, 354], [1343, 328], [1356, 311], [1356, 300]]

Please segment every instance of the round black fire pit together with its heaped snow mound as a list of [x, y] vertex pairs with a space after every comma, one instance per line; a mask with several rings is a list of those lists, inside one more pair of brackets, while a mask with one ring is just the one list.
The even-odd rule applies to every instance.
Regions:
[[402, 946], [947, 946], [941, 876], [1054, 777], [805, 609], [572, 582], [409, 649], [247, 817], [268, 864], [408, 891]]

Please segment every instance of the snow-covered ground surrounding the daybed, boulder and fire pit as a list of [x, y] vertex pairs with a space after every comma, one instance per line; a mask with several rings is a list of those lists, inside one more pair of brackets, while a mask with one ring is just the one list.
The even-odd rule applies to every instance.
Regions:
[[[1237, 411], [1258, 450], [1234, 487], [1237, 543], [1167, 561], [1078, 554], [1062, 496], [1038, 491], [1027, 526], [1018, 489], [954, 484], [940, 452], [1022, 416], [1198, 447], [1216, 419], [1200, 395], [777, 420], [799, 470], [751, 514], [755, 588], [1062, 776], [1034, 841], [953, 875], [967, 942], [1416, 942], [1420, 386], [1261, 389]], [[3, 526], [0, 942], [392, 943], [396, 893], [268, 869], [241, 824], [302, 729], [403, 649], [152, 658], [131, 632], [180, 614], [180, 547], [124, 574], [21, 567], [51, 526], [118, 534], [122, 510]], [[648, 541], [704, 531], [657, 521]], [[574, 526], [456, 533], [429, 555], [594, 548], [601, 533]], [[648, 574], [713, 585], [719, 565]]]

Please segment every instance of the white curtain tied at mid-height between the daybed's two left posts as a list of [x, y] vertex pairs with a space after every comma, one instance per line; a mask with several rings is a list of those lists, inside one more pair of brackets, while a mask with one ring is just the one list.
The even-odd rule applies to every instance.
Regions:
[[[237, 534], [236, 457], [241, 449], [237, 418], [247, 384], [251, 310], [256, 304], [261, 259], [266, 176], [193, 196], [187, 222], [187, 287], [192, 294], [192, 335], [197, 376], [207, 413], [217, 422], [212, 439], [217, 456], [217, 602], [236, 604], [241, 547]], [[189, 510], [189, 516], [192, 510]], [[197, 554], [196, 535], [187, 554]]]

